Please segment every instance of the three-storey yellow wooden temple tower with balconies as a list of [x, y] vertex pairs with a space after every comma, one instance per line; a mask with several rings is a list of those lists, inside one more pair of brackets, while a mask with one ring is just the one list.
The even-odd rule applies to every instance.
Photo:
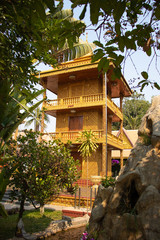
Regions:
[[[123, 165], [123, 97], [132, 94], [126, 80], [112, 80], [113, 64], [107, 74], [98, 72], [98, 63], [91, 63], [86, 55], [59, 65], [58, 68], [40, 73], [40, 83], [57, 95], [56, 100], [47, 100], [45, 112], [56, 117], [55, 138], [66, 143], [72, 141], [72, 155], [80, 161], [81, 178], [86, 179], [86, 161], [78, 153], [77, 137], [83, 130], [92, 130], [99, 145], [89, 158], [89, 177], [111, 176], [112, 150], [120, 150]], [[46, 93], [44, 94], [44, 96]], [[119, 99], [118, 107], [113, 98]], [[112, 134], [112, 123], [120, 122], [120, 134]], [[42, 119], [42, 132], [44, 120]]]

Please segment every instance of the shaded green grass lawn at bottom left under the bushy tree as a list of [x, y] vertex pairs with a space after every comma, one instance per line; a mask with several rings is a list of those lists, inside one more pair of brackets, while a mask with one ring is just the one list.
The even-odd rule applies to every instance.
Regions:
[[[18, 214], [9, 215], [7, 218], [0, 217], [0, 240], [14, 237]], [[45, 209], [41, 216], [39, 210], [25, 211], [23, 222], [25, 230], [28, 233], [34, 233], [45, 230], [52, 220], [62, 219], [61, 211]]]

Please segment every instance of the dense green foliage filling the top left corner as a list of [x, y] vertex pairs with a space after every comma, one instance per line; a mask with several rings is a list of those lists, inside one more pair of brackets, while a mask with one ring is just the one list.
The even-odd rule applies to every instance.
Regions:
[[62, 7], [62, 1], [55, 7], [54, 0], [1, 1], [2, 82], [12, 83], [19, 89], [33, 87], [37, 82], [33, 59], [55, 64], [56, 53], [64, 43], [67, 41], [71, 47], [77, 42], [85, 25], [72, 20], [72, 11], [62, 14]]

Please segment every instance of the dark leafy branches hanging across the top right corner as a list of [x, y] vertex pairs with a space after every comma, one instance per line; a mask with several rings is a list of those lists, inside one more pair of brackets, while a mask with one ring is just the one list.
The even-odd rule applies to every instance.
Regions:
[[[95, 50], [93, 61], [101, 59], [99, 69], [107, 71], [112, 61], [117, 68], [115, 76], [121, 74], [121, 63], [131, 58], [133, 52], [142, 50], [151, 57], [158, 59], [160, 49], [160, 1], [159, 0], [71, 0], [72, 8], [83, 6], [80, 19], [83, 19], [86, 9], [90, 7], [90, 20], [95, 25], [98, 41], [94, 43], [99, 47]], [[104, 33], [105, 44], [100, 38]], [[153, 53], [153, 54], [152, 54]], [[149, 70], [150, 65], [148, 66]], [[159, 73], [158, 66], [156, 70]], [[148, 72], [148, 71], [147, 71]], [[141, 73], [139, 82], [141, 90], [150, 82], [146, 71]], [[160, 73], [159, 73], [160, 75]], [[153, 86], [160, 89], [157, 82]]]

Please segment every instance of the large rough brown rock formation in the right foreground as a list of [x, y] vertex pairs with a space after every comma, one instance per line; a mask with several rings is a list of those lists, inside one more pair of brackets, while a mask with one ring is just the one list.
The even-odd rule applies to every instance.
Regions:
[[114, 189], [99, 186], [89, 222], [98, 240], [160, 240], [160, 96], [138, 134]]

